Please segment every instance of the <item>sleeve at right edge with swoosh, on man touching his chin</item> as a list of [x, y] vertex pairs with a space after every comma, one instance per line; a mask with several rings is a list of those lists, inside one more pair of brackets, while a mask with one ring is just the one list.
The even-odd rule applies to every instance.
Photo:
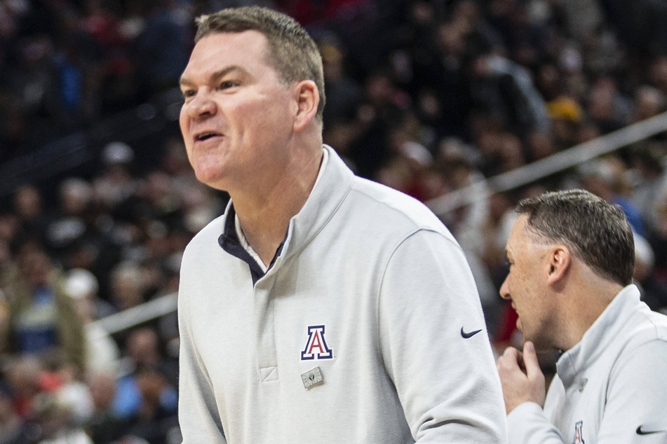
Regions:
[[667, 341], [628, 351], [609, 378], [598, 443], [667, 443]]

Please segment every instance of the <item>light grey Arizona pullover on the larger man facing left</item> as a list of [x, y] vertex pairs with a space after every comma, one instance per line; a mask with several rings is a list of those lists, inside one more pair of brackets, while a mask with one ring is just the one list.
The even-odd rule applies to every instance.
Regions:
[[459, 245], [423, 204], [325, 150], [265, 274], [227, 251], [233, 203], [184, 252], [184, 444], [506, 443]]

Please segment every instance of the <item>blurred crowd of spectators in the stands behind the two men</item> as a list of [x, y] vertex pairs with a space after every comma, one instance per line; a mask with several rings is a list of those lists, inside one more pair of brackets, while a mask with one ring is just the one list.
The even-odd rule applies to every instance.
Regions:
[[[325, 143], [422, 201], [667, 111], [659, 0], [0, 0], [0, 162], [174, 88], [192, 18], [242, 4], [320, 45]], [[227, 202], [177, 135], [156, 143], [106, 144], [92, 174], [25, 183], [0, 209], [0, 444], [179, 442], [175, 317], [93, 323], [176, 291], [185, 244]], [[443, 215], [499, 347], [516, 340], [498, 296], [511, 208], [541, 190], [620, 204], [635, 279], [667, 310], [666, 153], [659, 134]]]

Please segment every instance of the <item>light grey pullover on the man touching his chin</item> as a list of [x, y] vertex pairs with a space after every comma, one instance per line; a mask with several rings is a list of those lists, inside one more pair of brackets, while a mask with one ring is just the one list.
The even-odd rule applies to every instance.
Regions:
[[626, 286], [556, 363], [544, 411], [507, 417], [511, 444], [667, 444], [667, 316]]

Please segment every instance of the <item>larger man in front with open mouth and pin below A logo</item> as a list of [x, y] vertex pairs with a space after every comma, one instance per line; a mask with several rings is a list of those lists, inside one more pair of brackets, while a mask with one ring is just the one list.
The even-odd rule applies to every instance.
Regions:
[[184, 251], [184, 443], [503, 443], [471, 272], [426, 207], [323, 146], [321, 57], [266, 8], [198, 19], [180, 116], [231, 201]]

